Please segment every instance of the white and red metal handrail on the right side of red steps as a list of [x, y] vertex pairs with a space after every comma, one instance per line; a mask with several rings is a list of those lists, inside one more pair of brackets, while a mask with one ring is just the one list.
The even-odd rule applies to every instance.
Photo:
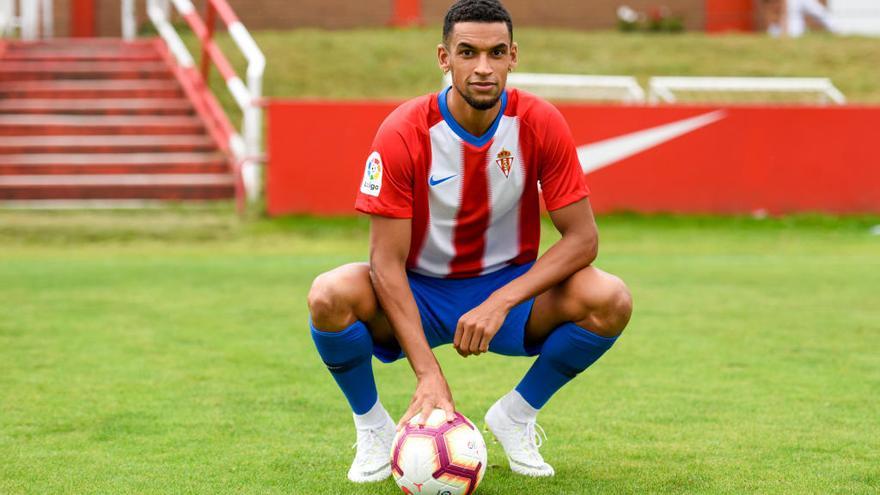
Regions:
[[[251, 37], [250, 33], [238, 20], [229, 6], [223, 0], [208, 0], [209, 22], [206, 23], [198, 16], [190, 0], [148, 0], [147, 13], [153, 25], [159, 31], [159, 35], [168, 44], [169, 50], [174, 55], [177, 63], [186, 69], [193, 69], [195, 62], [180, 35], [169, 22], [170, 6], [187, 21], [203, 45], [203, 58], [217, 66], [220, 74], [226, 82], [226, 87], [232, 94], [233, 99], [242, 111], [241, 133], [232, 133], [229, 136], [229, 149], [235, 155], [240, 165], [241, 179], [244, 183], [245, 192], [250, 201], [256, 201], [260, 195], [260, 161], [261, 155], [261, 132], [262, 132], [262, 97], [263, 73], [266, 68], [266, 57]], [[216, 9], [216, 11], [212, 10]], [[234, 72], [226, 57], [220, 52], [212, 40], [213, 17], [212, 12], [219, 14], [227, 25], [229, 35], [241, 50], [247, 61], [247, 84]], [[207, 87], [207, 65], [203, 65], [203, 78]], [[242, 136], [243, 135], [243, 136]]]

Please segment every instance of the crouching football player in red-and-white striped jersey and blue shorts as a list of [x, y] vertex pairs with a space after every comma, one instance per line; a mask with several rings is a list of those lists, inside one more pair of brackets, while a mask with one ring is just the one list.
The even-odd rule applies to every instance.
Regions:
[[[514, 472], [552, 476], [538, 412], [629, 321], [626, 285], [592, 265], [598, 235], [568, 125], [551, 104], [505, 87], [517, 57], [499, 1], [449, 9], [437, 60], [452, 85], [392, 112], [367, 157], [355, 206], [371, 218], [369, 263], [312, 285], [311, 335], [354, 412], [352, 481], [391, 472], [396, 425], [378, 399], [372, 356], [406, 357], [417, 378], [397, 425], [434, 408], [453, 418], [435, 346], [537, 356], [485, 420]], [[541, 257], [539, 184], [561, 234]]]

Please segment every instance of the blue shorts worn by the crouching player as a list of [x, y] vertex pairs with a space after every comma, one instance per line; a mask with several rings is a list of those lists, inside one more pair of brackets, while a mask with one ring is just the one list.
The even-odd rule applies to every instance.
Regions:
[[[409, 287], [419, 307], [428, 345], [434, 348], [451, 344], [458, 319], [463, 314], [527, 272], [533, 264], [534, 262], [510, 265], [472, 278], [436, 278], [407, 272]], [[524, 342], [526, 322], [534, 302], [535, 299], [531, 298], [510, 310], [498, 333], [489, 342], [489, 352], [507, 356], [534, 356], [540, 352], [540, 346], [526, 347]], [[383, 363], [391, 363], [404, 356], [396, 342], [390, 346], [374, 344], [373, 355]]]

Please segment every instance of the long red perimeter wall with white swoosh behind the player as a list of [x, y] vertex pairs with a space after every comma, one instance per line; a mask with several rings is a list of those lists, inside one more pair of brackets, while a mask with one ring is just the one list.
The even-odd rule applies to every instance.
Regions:
[[[353, 214], [396, 104], [272, 100], [269, 213]], [[880, 213], [880, 107], [558, 106], [578, 146], [601, 143], [583, 161], [609, 162], [587, 175], [597, 212]]]

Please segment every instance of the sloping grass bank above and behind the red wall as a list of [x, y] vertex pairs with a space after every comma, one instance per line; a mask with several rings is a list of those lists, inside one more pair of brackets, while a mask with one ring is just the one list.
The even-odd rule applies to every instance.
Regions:
[[[829, 77], [849, 102], [880, 103], [877, 41], [867, 37], [818, 34], [774, 39], [760, 34], [621, 34], [539, 28], [516, 28], [515, 37], [519, 72], [629, 75], [643, 87], [651, 76]], [[263, 86], [267, 96], [402, 100], [441, 87], [435, 56], [440, 26], [256, 31], [254, 38], [268, 61]], [[221, 34], [218, 39], [244, 74], [238, 49], [228, 36]], [[192, 53], [198, 54], [195, 38], [188, 36], [186, 41]], [[235, 104], [225, 83], [216, 70], [213, 76], [214, 93], [232, 110]], [[749, 100], [743, 94], [680, 96], [683, 101], [711, 103]], [[794, 101], [815, 103], [817, 98], [815, 94], [795, 95]]]

